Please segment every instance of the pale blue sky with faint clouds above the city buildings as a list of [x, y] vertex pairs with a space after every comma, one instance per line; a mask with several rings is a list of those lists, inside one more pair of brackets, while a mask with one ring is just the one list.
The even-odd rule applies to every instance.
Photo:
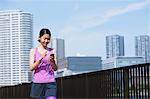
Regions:
[[134, 37], [150, 35], [150, 0], [1, 0], [0, 10], [33, 14], [33, 41], [41, 28], [65, 39], [66, 56], [106, 56], [107, 35], [124, 36], [134, 56]]

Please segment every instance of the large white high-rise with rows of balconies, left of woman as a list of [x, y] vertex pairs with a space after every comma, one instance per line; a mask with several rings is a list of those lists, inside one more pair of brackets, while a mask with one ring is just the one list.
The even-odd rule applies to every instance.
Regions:
[[32, 14], [0, 11], [0, 86], [29, 82], [32, 48]]

